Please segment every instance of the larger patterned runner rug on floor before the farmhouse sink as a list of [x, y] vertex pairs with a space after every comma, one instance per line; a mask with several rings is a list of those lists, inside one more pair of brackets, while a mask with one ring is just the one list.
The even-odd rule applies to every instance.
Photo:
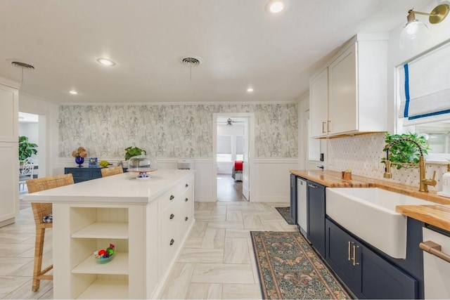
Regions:
[[250, 233], [264, 299], [352, 299], [301, 233]]

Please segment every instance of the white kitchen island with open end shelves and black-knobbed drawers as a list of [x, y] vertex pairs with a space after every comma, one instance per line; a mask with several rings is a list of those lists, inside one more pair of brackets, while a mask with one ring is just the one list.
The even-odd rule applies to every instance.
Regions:
[[[124, 173], [25, 195], [53, 203], [55, 299], [160, 298], [194, 223], [194, 171]], [[115, 258], [94, 252], [115, 244]]]

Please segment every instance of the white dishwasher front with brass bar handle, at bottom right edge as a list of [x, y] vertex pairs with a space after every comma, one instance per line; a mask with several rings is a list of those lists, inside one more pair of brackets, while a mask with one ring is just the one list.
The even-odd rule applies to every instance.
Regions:
[[423, 228], [423, 279], [425, 299], [450, 299], [450, 232]]

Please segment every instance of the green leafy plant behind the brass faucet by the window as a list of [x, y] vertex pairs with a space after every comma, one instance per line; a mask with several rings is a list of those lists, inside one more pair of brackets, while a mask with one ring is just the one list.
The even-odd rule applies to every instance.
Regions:
[[[418, 133], [403, 133], [403, 134], [390, 134], [385, 133], [385, 148], [383, 148], [383, 151], [387, 150], [387, 147], [392, 144], [393, 141], [401, 139], [401, 138], [408, 138], [410, 140], [416, 141], [420, 148], [422, 148], [423, 154], [427, 155], [428, 150], [430, 150], [430, 145], [428, 144], [428, 141], [425, 139], [424, 136], [419, 136]], [[418, 151], [418, 148], [414, 143], [411, 143], [409, 141], [400, 141], [398, 143], [394, 143], [394, 145], [391, 145], [389, 150], [389, 159], [394, 164], [397, 169], [403, 168], [413, 168], [418, 167], [420, 152]], [[386, 157], [383, 157], [381, 159], [381, 162], [383, 164], [386, 164]], [[402, 164], [395, 164], [396, 162], [402, 163]]]

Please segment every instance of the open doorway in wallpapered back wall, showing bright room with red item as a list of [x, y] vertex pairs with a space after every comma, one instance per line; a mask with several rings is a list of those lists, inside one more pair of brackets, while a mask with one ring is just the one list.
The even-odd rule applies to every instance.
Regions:
[[214, 195], [217, 201], [250, 201], [253, 113], [214, 114]]

